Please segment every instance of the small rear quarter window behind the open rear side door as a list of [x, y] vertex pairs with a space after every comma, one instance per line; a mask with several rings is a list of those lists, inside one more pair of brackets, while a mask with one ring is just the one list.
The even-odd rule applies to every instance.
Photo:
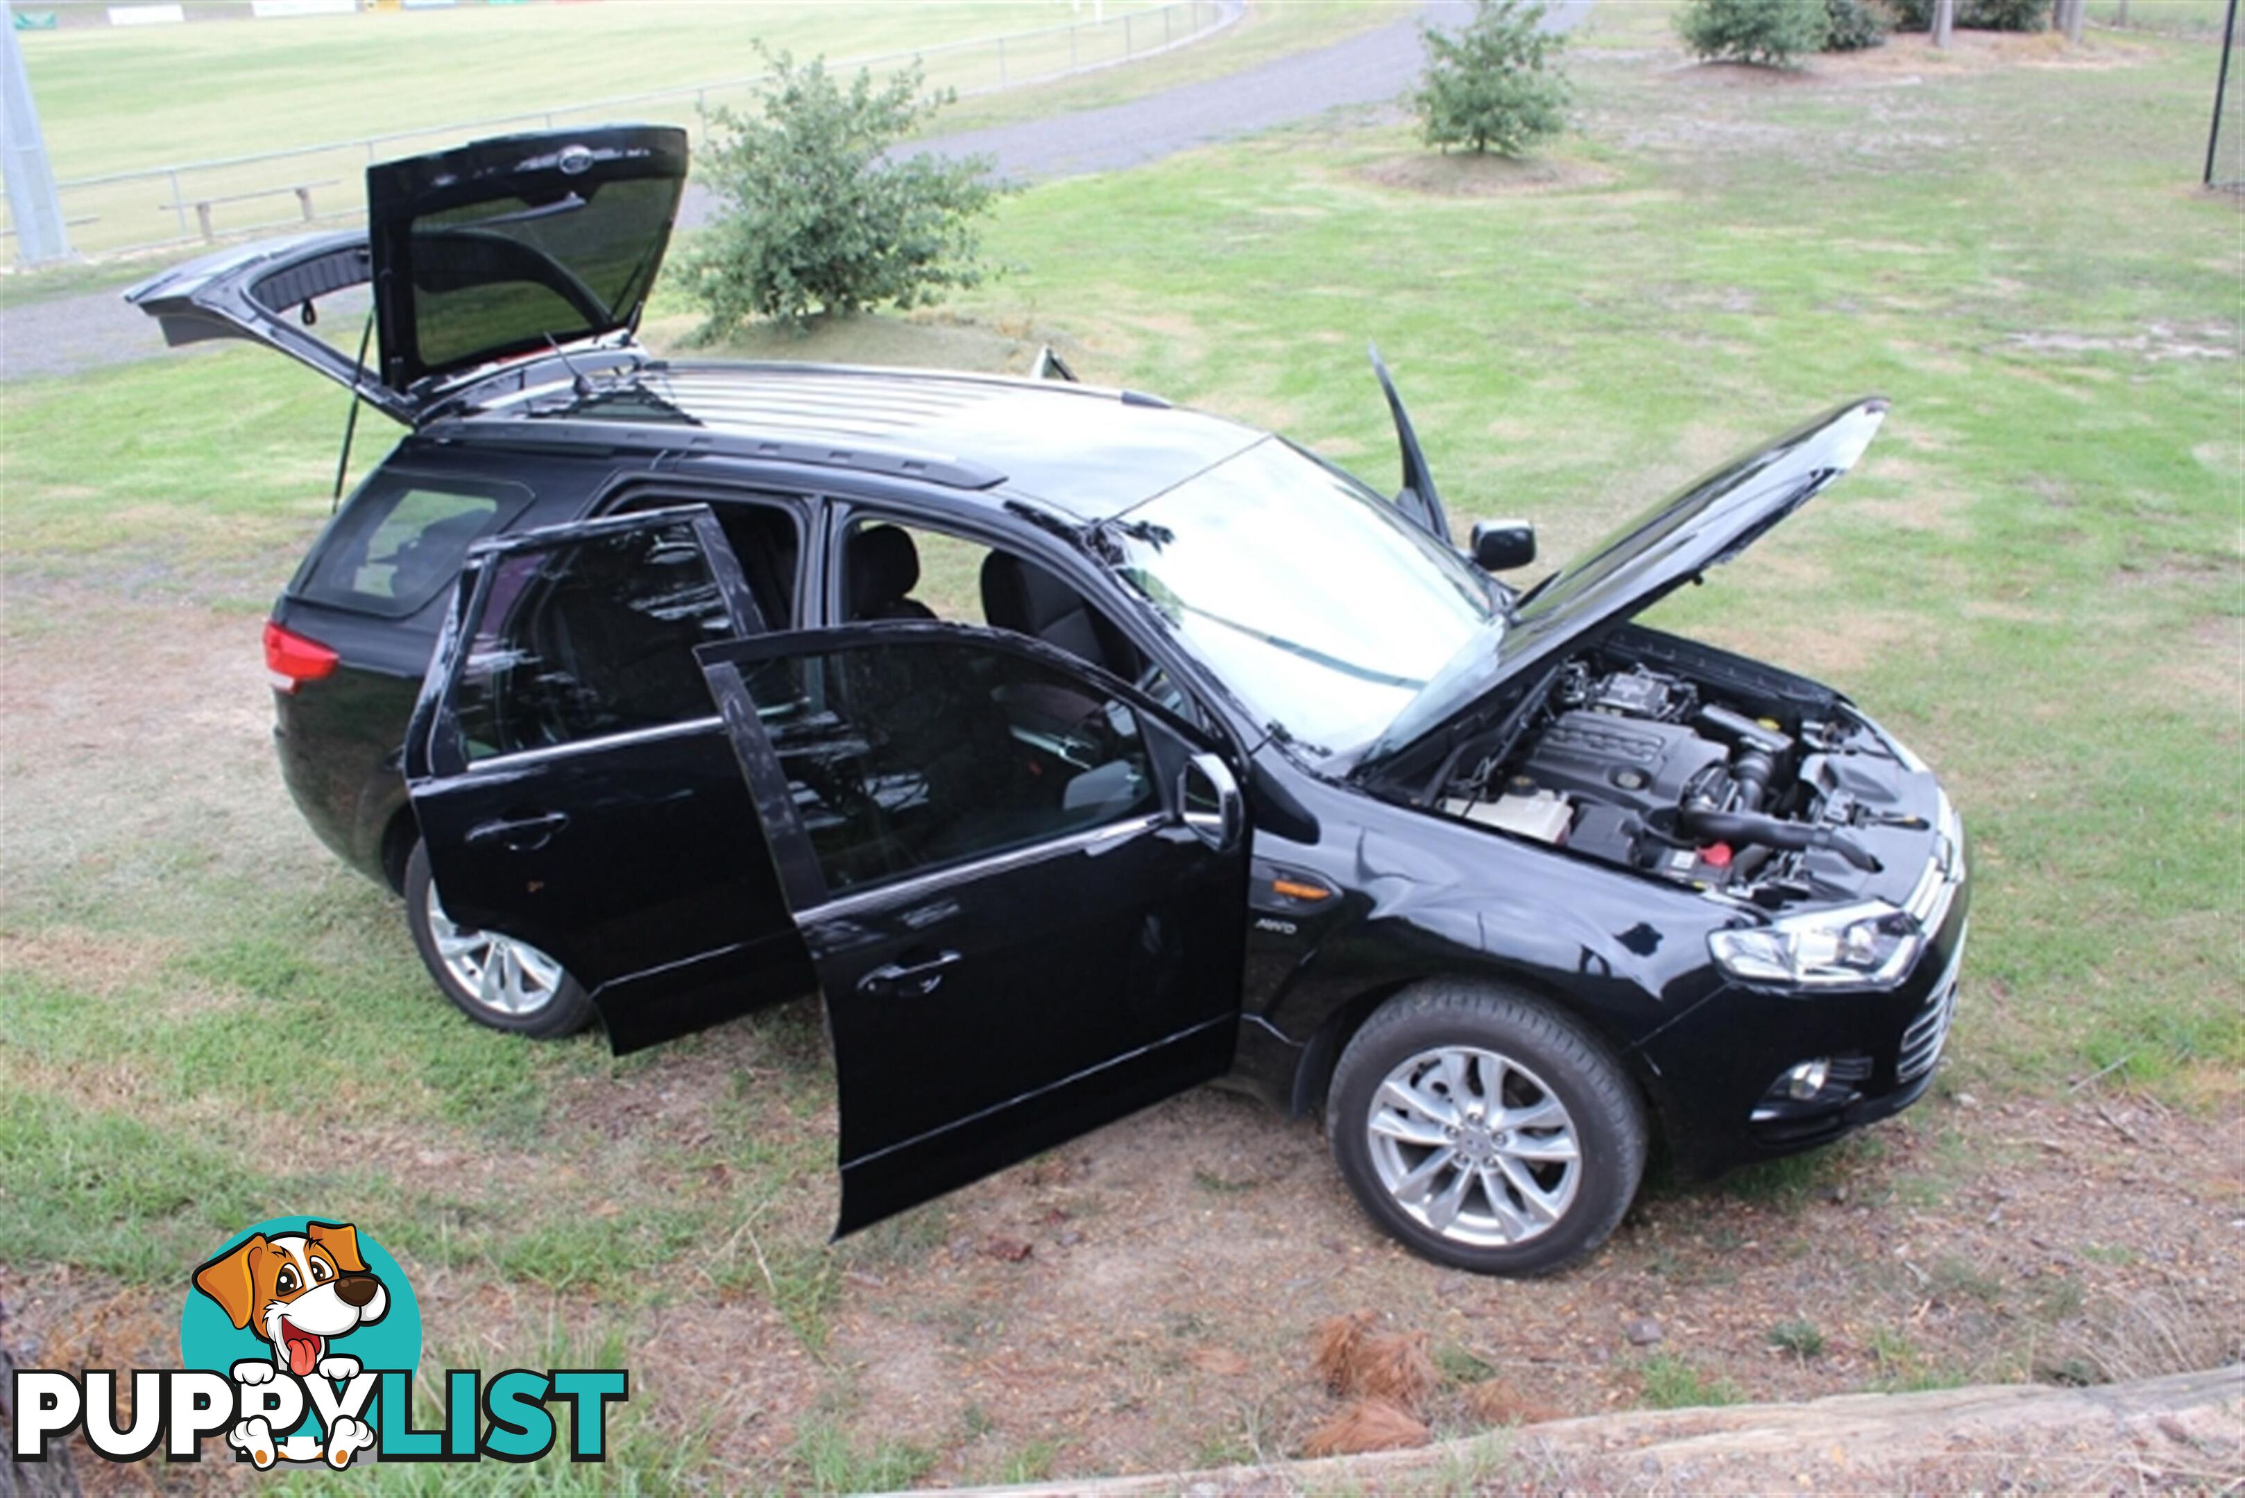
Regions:
[[510, 526], [528, 503], [519, 483], [377, 474], [321, 537], [292, 593], [402, 620], [451, 586], [469, 544]]

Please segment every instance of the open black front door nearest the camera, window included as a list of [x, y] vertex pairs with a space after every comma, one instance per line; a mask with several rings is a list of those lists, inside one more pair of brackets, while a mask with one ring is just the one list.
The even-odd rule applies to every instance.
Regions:
[[1230, 1065], [1246, 833], [1188, 728], [952, 624], [700, 660], [826, 995], [837, 1233]]

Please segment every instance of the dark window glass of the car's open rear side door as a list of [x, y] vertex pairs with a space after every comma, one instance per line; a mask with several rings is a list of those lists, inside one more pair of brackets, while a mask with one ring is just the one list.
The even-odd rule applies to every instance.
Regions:
[[732, 633], [687, 521], [507, 552], [453, 692], [467, 757], [712, 716], [694, 647]]

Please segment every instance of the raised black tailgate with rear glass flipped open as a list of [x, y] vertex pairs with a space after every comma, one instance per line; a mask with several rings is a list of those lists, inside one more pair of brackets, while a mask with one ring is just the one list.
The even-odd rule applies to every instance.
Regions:
[[[278, 348], [406, 424], [458, 375], [640, 326], [687, 177], [674, 126], [546, 130], [366, 168], [366, 231], [222, 249], [126, 292], [171, 344]], [[379, 357], [312, 332], [373, 285]]]

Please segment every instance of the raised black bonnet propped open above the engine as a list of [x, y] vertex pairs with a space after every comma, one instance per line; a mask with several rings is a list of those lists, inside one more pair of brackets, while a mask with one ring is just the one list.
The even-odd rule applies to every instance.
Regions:
[[1717, 467], [1628, 521], [1520, 597], [1502, 642], [1475, 640], [1396, 714], [1360, 768], [1502, 710], [1540, 665], [1592, 645], [1771, 526], [1854, 467], [1886, 420], [1872, 395], [1818, 415]]

